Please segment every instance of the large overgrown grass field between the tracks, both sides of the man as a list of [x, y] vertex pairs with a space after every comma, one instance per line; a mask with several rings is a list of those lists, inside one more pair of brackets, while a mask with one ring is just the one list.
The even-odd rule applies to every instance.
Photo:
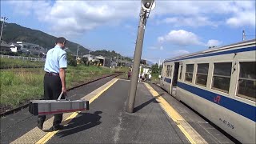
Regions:
[[[114, 70], [103, 67], [69, 66], [66, 70], [66, 85], [70, 88], [111, 73], [114, 73]], [[31, 99], [42, 98], [44, 74], [42, 69], [1, 70], [1, 106], [15, 108]]]

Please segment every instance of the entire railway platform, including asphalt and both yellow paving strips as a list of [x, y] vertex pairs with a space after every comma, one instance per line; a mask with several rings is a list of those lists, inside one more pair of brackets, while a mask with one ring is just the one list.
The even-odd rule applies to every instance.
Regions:
[[103, 78], [71, 90], [90, 110], [63, 115], [64, 130], [43, 130], [27, 109], [1, 118], [1, 143], [234, 143], [204, 118], [154, 84], [138, 83], [134, 113], [126, 113], [130, 82]]

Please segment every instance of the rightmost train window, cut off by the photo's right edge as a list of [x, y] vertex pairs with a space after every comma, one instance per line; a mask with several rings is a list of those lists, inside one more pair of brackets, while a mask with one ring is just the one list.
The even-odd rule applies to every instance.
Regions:
[[256, 100], [256, 62], [240, 62], [238, 96]]

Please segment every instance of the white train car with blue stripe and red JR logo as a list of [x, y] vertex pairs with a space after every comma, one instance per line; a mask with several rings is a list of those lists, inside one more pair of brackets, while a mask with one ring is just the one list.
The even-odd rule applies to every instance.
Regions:
[[161, 86], [242, 143], [256, 143], [256, 39], [166, 59]]

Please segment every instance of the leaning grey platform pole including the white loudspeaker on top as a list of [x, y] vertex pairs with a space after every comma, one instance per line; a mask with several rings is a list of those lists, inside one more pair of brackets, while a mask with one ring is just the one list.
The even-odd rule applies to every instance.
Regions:
[[133, 113], [134, 112], [134, 101], [136, 96], [137, 84], [138, 84], [138, 74], [139, 74], [139, 66], [142, 57], [142, 45], [144, 39], [144, 32], [146, 27], [147, 18], [149, 18], [150, 10], [153, 10], [155, 7], [154, 0], [142, 0], [141, 2], [142, 8], [139, 14], [139, 26], [138, 26], [138, 35], [136, 40], [136, 46], [134, 51], [134, 64], [133, 71], [131, 74], [130, 80], [130, 91], [128, 94], [126, 112]]

